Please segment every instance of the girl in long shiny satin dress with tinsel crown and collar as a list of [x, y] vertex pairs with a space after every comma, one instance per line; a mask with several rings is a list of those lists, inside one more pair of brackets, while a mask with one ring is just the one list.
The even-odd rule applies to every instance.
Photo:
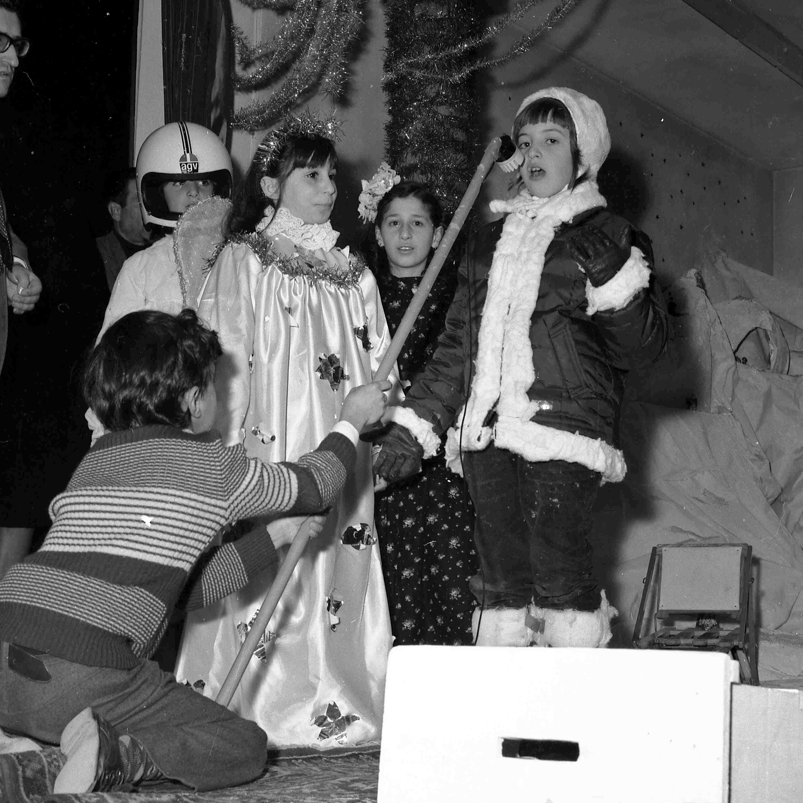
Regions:
[[[280, 129], [263, 140], [198, 308], [224, 349], [216, 427], [226, 444], [240, 440], [266, 461], [315, 448], [390, 342], [376, 280], [335, 247], [336, 165], [327, 137]], [[391, 635], [374, 532], [370, 444], [360, 442], [356, 471], [309, 541], [230, 705], [269, 744], [379, 740]], [[202, 679], [204, 694], [217, 695], [272, 579], [188, 619], [179, 679]]]

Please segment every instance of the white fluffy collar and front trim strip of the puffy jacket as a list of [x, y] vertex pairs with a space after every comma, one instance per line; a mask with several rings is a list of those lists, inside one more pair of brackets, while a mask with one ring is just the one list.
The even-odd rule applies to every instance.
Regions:
[[479, 326], [476, 373], [463, 421], [463, 448], [484, 449], [491, 442], [488, 414], [529, 420], [528, 390], [535, 381], [530, 320], [535, 312], [544, 257], [555, 230], [585, 210], [606, 206], [596, 181], [551, 198], [527, 190], [510, 201], [491, 202], [507, 212], [488, 273], [488, 291]]

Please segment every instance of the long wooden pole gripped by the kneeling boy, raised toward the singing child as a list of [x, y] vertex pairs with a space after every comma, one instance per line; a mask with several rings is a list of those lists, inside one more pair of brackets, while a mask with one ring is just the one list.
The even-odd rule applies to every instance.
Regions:
[[[513, 144], [509, 138], [505, 137], [505, 140], [505, 153], [503, 153], [503, 158], [507, 159], [511, 155], [510, 148]], [[499, 156], [500, 148], [502, 148], [502, 137], [495, 137], [485, 149], [483, 158], [475, 170], [474, 177], [471, 178], [471, 183], [468, 185], [465, 194], [463, 194], [463, 199], [460, 201], [460, 205], [454, 213], [454, 217], [451, 219], [446, 233], [443, 234], [438, 249], [435, 251], [429, 266], [426, 268], [426, 271], [424, 271], [424, 275], [422, 275], [421, 281], [418, 283], [418, 290], [415, 292], [413, 300], [410, 301], [410, 306], [407, 308], [402, 322], [398, 325], [396, 334], [393, 335], [393, 340], [388, 350], [385, 352], [385, 356], [382, 357], [377, 373], [373, 376], [373, 381], [382, 381], [389, 377], [393, 365], [395, 365], [399, 354], [402, 353], [405, 340], [410, 334], [410, 330], [413, 328], [415, 319], [424, 306], [426, 296], [430, 294], [432, 285], [435, 283], [435, 279], [438, 278], [438, 273], [443, 267], [443, 263], [446, 262], [446, 257], [449, 255], [452, 245], [454, 245], [454, 240], [460, 233], [460, 229], [463, 228], [463, 223], [466, 222], [471, 206], [474, 205], [477, 195], [479, 194], [479, 188], [483, 185], [488, 171]], [[515, 146], [513, 146], [513, 150], [515, 151]], [[296, 569], [296, 563], [298, 563], [304, 552], [304, 547], [307, 546], [307, 541], [309, 540], [308, 522], [309, 518], [305, 519], [301, 523], [298, 532], [296, 532], [290, 549], [287, 551], [287, 556], [285, 556], [282, 561], [282, 565], [279, 566], [279, 572], [276, 573], [276, 578], [271, 584], [271, 588], [268, 589], [262, 606], [259, 608], [259, 613], [257, 613], [254, 624], [251, 626], [251, 630], [246, 634], [243, 646], [240, 647], [237, 658], [234, 658], [234, 663], [229, 670], [229, 674], [226, 675], [226, 680], [223, 682], [222, 687], [220, 687], [220, 691], [218, 691], [218, 696], [215, 699], [223, 706], [227, 707], [231, 702], [231, 698], [234, 696], [234, 690], [238, 687], [240, 680], [243, 678], [248, 662], [251, 661], [251, 655], [254, 654], [259, 644], [259, 639], [262, 638], [265, 633], [267, 624], [271, 621], [271, 616], [273, 616], [276, 609], [276, 605], [279, 604], [279, 598], [284, 593], [284, 589], [287, 588], [287, 583], [290, 581], [293, 569]]]

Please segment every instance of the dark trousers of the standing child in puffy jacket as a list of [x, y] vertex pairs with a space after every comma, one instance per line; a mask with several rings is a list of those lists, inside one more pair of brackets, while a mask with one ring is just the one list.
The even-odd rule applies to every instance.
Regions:
[[529, 463], [491, 443], [463, 452], [474, 502], [481, 574], [471, 591], [484, 607], [595, 610], [591, 510], [600, 475], [577, 463]]

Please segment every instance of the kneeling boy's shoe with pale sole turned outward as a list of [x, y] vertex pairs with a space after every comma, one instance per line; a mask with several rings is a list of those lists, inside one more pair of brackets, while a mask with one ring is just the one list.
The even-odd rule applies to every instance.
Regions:
[[61, 735], [61, 752], [67, 762], [55, 779], [54, 794], [133, 788], [132, 773], [120, 754], [120, 735], [92, 708], [84, 708], [67, 723]]

